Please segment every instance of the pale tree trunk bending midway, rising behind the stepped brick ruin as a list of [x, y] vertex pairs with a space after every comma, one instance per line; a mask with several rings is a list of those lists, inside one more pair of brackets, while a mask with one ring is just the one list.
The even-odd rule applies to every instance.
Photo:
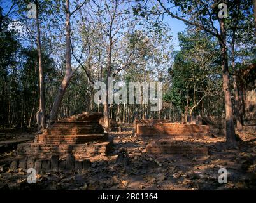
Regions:
[[66, 74], [62, 83], [60, 84], [59, 91], [54, 100], [53, 107], [50, 113], [50, 121], [57, 119], [58, 110], [62, 101], [62, 98], [68, 88], [69, 82], [72, 78], [71, 70], [71, 44], [70, 44], [70, 11], [69, 0], [66, 0]]

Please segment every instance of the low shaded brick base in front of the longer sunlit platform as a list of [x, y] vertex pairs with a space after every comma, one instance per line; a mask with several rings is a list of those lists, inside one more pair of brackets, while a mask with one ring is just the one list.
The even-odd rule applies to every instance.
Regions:
[[181, 143], [152, 141], [146, 146], [146, 152], [150, 154], [171, 154], [171, 155], [208, 155], [207, 147], [196, 147], [192, 144], [182, 145]]

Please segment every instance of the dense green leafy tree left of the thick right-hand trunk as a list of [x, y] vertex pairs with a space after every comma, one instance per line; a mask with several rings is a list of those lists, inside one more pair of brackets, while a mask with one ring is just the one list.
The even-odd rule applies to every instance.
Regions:
[[178, 38], [181, 50], [176, 51], [173, 67], [169, 69], [172, 86], [164, 98], [184, 110], [187, 105], [192, 108], [204, 95], [212, 96], [213, 91], [219, 91], [220, 58], [217, 41], [204, 32], [188, 29], [179, 33]]

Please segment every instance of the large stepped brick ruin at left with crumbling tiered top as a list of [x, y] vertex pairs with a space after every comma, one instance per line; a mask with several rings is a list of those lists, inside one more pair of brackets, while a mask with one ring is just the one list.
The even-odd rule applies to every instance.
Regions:
[[54, 121], [42, 134], [36, 136], [33, 143], [18, 145], [18, 157], [26, 160], [51, 159], [53, 155], [60, 159], [71, 155], [75, 160], [105, 156], [111, 150], [113, 138], [104, 133], [99, 124], [101, 113], [83, 113]]

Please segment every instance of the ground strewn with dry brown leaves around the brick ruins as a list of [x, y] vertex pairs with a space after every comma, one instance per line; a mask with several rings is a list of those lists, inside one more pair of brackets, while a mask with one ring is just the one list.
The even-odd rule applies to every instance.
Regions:
[[[160, 156], [146, 154], [150, 140], [140, 140], [132, 132], [111, 133], [113, 152], [91, 159], [83, 171], [45, 172], [36, 184], [27, 183], [24, 169], [12, 171], [8, 160], [16, 151], [0, 155], [0, 189], [10, 190], [252, 190], [256, 189], [256, 135], [240, 133], [238, 147], [229, 148], [224, 138], [189, 139], [193, 145], [207, 146], [208, 156]], [[3, 136], [3, 134], [2, 134]], [[17, 135], [18, 136], [18, 135]], [[24, 136], [24, 134], [23, 134]], [[27, 134], [31, 138], [32, 133]], [[127, 152], [128, 157], [123, 157]], [[123, 157], [123, 159], [122, 159]], [[227, 183], [218, 183], [218, 170], [227, 169]]]

